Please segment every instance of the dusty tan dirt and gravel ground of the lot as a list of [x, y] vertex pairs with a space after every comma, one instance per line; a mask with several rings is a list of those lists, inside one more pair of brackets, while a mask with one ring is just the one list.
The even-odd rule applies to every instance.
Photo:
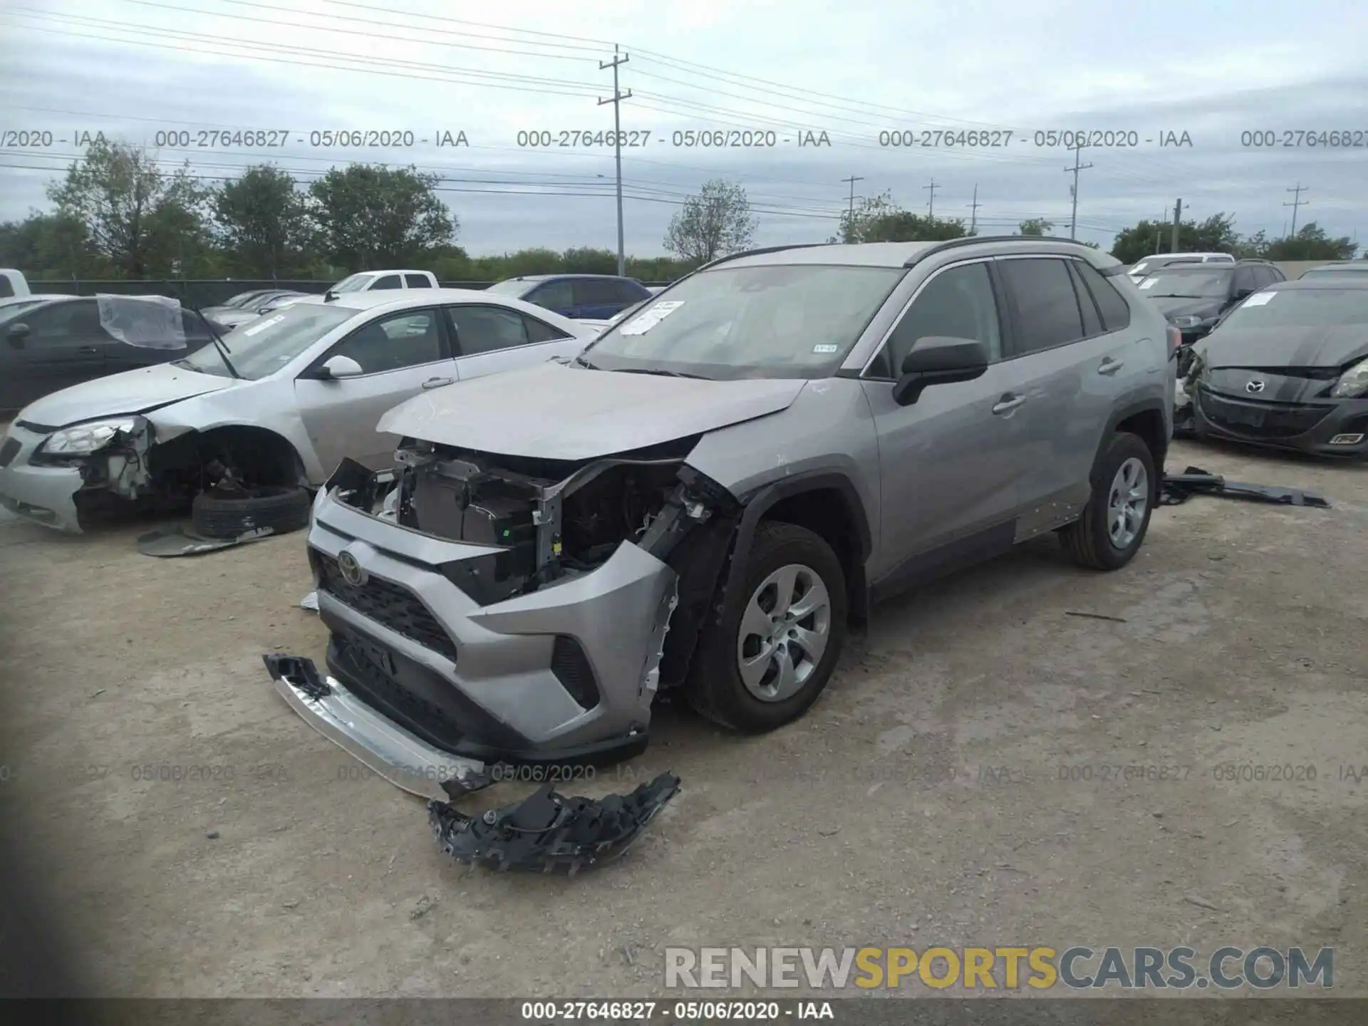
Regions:
[[447, 860], [279, 699], [261, 654], [324, 650], [302, 535], [159, 561], [145, 524], [3, 523], [4, 822], [107, 995], [650, 996], [668, 945], [1227, 943], [1332, 945], [1368, 995], [1368, 468], [1189, 462], [1335, 508], [1194, 498], [1114, 575], [1031, 544], [877, 609], [765, 737], [663, 709], [583, 791], [683, 791], [570, 881]]

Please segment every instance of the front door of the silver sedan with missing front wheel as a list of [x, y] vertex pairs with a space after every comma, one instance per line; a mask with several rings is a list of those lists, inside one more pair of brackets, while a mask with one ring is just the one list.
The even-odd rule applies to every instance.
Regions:
[[[335, 356], [356, 360], [361, 373], [338, 380], [315, 376]], [[394, 462], [399, 439], [375, 430], [380, 417], [424, 389], [456, 379], [440, 313], [424, 308], [363, 324], [300, 375], [294, 397], [324, 469], [331, 471], [345, 456], [383, 469]]]

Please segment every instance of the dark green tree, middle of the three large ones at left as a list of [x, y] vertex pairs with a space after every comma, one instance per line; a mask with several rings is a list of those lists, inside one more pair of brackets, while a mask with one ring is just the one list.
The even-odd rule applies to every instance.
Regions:
[[309, 263], [311, 234], [304, 194], [274, 164], [249, 167], [213, 196], [219, 237], [234, 269], [291, 278]]

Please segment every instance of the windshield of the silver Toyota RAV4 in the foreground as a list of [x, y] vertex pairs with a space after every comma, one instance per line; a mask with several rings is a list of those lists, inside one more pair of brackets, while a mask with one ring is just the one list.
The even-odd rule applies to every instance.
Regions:
[[703, 271], [614, 324], [583, 360], [717, 379], [826, 378], [904, 274], [825, 264]]

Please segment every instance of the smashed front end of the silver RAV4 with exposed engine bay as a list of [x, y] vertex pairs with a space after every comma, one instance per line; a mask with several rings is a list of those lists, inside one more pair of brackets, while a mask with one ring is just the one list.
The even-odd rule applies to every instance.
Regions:
[[740, 512], [684, 464], [691, 445], [562, 462], [419, 442], [394, 471], [343, 462], [308, 538], [327, 692], [280, 673], [280, 694], [428, 798], [639, 754]]

